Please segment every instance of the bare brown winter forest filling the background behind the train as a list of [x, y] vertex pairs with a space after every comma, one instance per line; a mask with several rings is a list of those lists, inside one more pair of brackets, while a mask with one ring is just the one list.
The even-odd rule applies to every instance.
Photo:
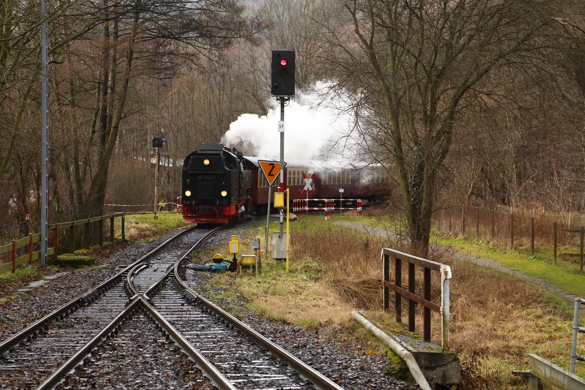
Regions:
[[[39, 14], [0, 0], [2, 241], [39, 230]], [[152, 203], [153, 137], [174, 201], [198, 143], [269, 112], [273, 49], [297, 52], [298, 91], [350, 115], [332, 147], [387, 170], [411, 242], [448, 204], [582, 212], [584, 15], [551, 0], [50, 1], [49, 222]]]

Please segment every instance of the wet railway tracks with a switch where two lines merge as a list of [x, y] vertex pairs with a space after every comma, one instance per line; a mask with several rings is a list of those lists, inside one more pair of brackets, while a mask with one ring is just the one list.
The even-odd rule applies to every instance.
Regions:
[[95, 361], [92, 350], [115, 340], [139, 313], [219, 388], [341, 390], [198, 294], [188, 256], [218, 229], [183, 230], [115, 277], [2, 341], [0, 386], [55, 388], [85, 359]]

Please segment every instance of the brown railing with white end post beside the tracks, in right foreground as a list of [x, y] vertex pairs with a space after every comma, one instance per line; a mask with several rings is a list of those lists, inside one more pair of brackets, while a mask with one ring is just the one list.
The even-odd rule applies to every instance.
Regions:
[[[421, 257], [411, 256], [397, 250], [384, 248], [384, 310], [390, 309], [390, 290], [394, 291], [396, 321], [402, 322], [402, 296], [408, 299], [408, 331], [415, 332], [415, 307], [424, 306], [423, 339], [431, 341], [431, 310], [441, 313], [441, 347], [449, 350], [449, 265], [436, 263]], [[394, 283], [390, 282], [390, 257], [394, 257]], [[402, 288], [402, 261], [408, 262], [408, 290]], [[415, 265], [423, 268], [423, 296], [415, 294]], [[431, 271], [441, 274], [441, 305], [431, 302]]]

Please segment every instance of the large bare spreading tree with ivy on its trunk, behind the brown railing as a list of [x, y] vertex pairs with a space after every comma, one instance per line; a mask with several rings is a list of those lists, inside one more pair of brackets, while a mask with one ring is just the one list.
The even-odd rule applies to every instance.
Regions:
[[[395, 174], [413, 250], [428, 253], [435, 181], [464, 114], [505, 101], [503, 68], [529, 67], [548, 2], [355, 0], [331, 29], [335, 86], [360, 156]], [[335, 61], [332, 61], [335, 60]], [[497, 73], [498, 78], [492, 77]]]

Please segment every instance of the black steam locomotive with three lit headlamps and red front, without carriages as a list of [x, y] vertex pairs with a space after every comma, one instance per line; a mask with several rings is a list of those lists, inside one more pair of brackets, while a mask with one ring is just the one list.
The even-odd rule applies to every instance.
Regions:
[[188, 223], [227, 223], [246, 201], [242, 154], [223, 144], [199, 144], [183, 164], [183, 218]]

